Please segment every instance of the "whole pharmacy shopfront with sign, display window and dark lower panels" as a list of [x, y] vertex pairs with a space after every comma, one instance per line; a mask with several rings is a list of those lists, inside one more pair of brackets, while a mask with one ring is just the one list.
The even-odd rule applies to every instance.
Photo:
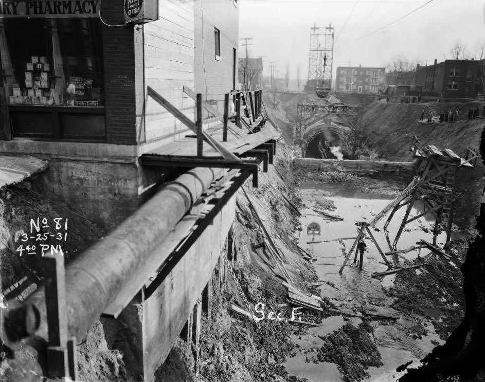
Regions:
[[0, 89], [12, 137], [105, 141], [99, 7], [0, 1]]

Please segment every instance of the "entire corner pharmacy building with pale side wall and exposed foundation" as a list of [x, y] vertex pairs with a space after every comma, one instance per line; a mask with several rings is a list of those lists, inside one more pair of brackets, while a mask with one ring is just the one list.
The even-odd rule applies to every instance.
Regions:
[[236, 0], [146, 0], [145, 23], [132, 23], [128, 3], [86, 2], [84, 13], [81, 3], [0, 14], [0, 152], [47, 160], [39, 187], [110, 229], [163, 176], [138, 157], [189, 131], [148, 86], [192, 121], [184, 86], [223, 99], [237, 86], [239, 10]]

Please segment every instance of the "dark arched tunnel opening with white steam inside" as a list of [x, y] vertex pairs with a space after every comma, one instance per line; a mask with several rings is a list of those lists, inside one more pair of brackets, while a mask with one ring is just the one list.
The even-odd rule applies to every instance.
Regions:
[[348, 156], [347, 141], [334, 132], [320, 131], [307, 140], [303, 156], [316, 159], [344, 159]]

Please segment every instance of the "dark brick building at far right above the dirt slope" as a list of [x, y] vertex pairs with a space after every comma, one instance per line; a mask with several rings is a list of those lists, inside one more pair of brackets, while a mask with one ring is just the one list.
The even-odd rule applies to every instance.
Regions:
[[444, 98], [477, 97], [483, 89], [485, 60], [445, 60], [417, 66], [415, 83], [423, 95]]

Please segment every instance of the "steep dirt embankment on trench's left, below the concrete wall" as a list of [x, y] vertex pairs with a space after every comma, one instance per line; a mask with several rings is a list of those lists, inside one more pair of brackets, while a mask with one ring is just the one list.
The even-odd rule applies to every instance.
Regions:
[[[274, 166], [267, 173], [260, 173], [259, 187], [245, 185], [248, 197], [258, 210], [266, 230], [285, 259], [296, 284], [315, 280], [311, 266], [301, 258], [293, 245], [292, 232], [298, 219], [294, 209], [282, 197], [293, 199], [294, 184], [291, 181], [291, 148], [279, 144]], [[284, 179], [284, 180], [283, 180]], [[236, 221], [233, 223], [235, 244], [235, 274], [244, 295], [252, 306], [258, 302], [270, 311], [282, 312], [288, 317], [291, 308], [278, 307], [284, 303], [286, 288], [274, 268], [270, 252], [266, 248], [255, 211], [243, 192], [237, 194]], [[246, 306], [232, 277], [226, 273], [226, 284], [219, 292], [218, 269], [213, 282], [211, 317], [203, 314], [201, 332], [201, 355], [196, 377], [187, 370], [193, 367], [194, 358], [187, 356], [187, 344], [179, 340], [167, 361], [158, 370], [157, 380], [196, 380], [204, 382], [230, 381], [289, 381], [282, 363], [294, 347], [290, 334], [292, 325], [284, 321], [261, 321], [261, 332], [254, 321], [230, 311], [231, 304]], [[250, 312], [254, 313], [254, 312]], [[303, 319], [311, 319], [309, 315]], [[181, 375], [183, 374], [183, 378]]]

